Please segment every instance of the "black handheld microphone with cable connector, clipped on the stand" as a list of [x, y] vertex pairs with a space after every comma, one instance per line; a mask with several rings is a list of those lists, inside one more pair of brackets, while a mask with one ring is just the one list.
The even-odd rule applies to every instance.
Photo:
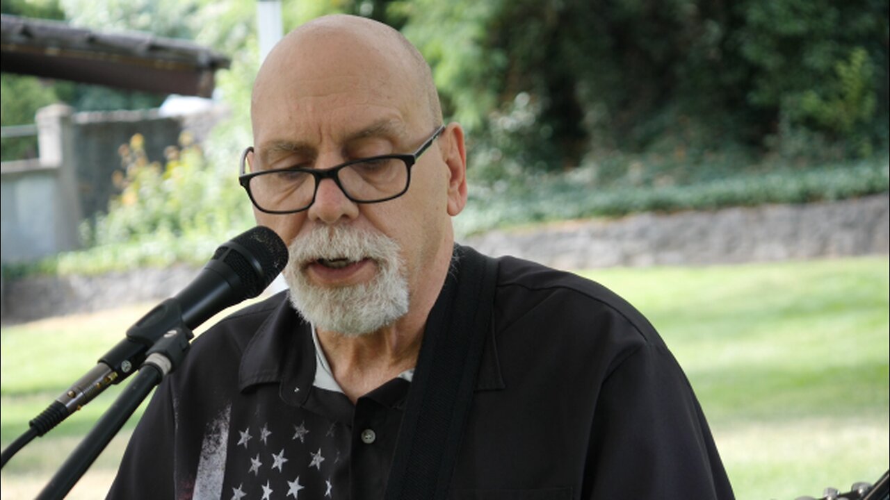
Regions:
[[43, 436], [110, 384], [133, 374], [167, 332], [183, 325], [191, 330], [217, 312], [259, 295], [285, 264], [287, 246], [267, 227], [257, 226], [223, 243], [198, 277], [130, 327], [124, 340], [28, 423], [31, 429]]

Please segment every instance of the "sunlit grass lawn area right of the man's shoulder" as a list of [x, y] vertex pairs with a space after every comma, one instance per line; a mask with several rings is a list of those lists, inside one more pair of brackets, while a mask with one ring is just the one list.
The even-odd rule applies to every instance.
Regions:
[[886, 257], [583, 274], [659, 329], [738, 498], [821, 496], [890, 466]]

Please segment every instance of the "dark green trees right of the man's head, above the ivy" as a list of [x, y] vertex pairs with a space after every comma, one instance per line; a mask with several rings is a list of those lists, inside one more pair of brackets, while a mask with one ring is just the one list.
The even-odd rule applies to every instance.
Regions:
[[533, 168], [615, 150], [778, 150], [799, 133], [810, 151], [839, 143], [852, 156], [886, 141], [884, 1], [414, 0], [387, 12], [408, 19], [452, 116]]

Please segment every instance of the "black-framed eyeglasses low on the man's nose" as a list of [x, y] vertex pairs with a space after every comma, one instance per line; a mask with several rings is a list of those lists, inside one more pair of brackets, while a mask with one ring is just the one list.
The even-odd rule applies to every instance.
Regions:
[[409, 155], [360, 158], [319, 169], [292, 167], [248, 172], [251, 165], [247, 155], [254, 150], [251, 146], [241, 154], [238, 181], [254, 206], [267, 214], [294, 214], [308, 209], [324, 179], [336, 182], [346, 198], [355, 203], [379, 203], [405, 194], [411, 182], [411, 167], [444, 130], [441, 125]]

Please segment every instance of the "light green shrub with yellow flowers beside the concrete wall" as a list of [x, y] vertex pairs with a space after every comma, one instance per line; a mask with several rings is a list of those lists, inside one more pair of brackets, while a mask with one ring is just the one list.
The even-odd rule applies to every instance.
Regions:
[[200, 263], [215, 245], [246, 230], [250, 204], [231, 165], [208, 165], [189, 133], [166, 150], [166, 163], [151, 162], [134, 135], [121, 148], [125, 175], [108, 214], [85, 222], [86, 250], [61, 254], [59, 272], [99, 272], [173, 262]]

